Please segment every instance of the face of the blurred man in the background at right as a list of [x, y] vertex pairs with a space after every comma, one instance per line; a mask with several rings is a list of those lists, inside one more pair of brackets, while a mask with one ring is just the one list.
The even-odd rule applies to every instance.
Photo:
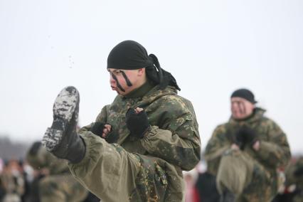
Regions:
[[231, 97], [230, 108], [234, 119], [245, 119], [250, 116], [255, 108], [255, 105], [241, 97]]

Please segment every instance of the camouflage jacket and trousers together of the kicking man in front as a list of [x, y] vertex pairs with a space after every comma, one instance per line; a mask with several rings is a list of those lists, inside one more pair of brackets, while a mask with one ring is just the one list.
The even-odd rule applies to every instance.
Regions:
[[[127, 110], [135, 107], [147, 112], [151, 124], [143, 139], [130, 136], [125, 122]], [[177, 95], [174, 87], [159, 90], [156, 86], [144, 97], [118, 95], [111, 105], [102, 108], [95, 121], [111, 124], [119, 132], [119, 139], [117, 144], [107, 144], [89, 132], [92, 124], [80, 129], [86, 145], [85, 159], [70, 164], [70, 170], [84, 186], [104, 201], [184, 200], [181, 171], [193, 169], [201, 157], [198, 123], [190, 101]], [[115, 184], [115, 178], [123, 185]], [[111, 191], [112, 186], [115, 189]], [[113, 196], [117, 190], [119, 196]]]

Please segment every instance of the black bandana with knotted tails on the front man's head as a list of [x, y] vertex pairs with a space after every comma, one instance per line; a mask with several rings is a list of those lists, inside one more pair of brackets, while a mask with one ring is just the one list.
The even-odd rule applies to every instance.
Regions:
[[122, 41], [115, 46], [108, 55], [107, 68], [119, 70], [145, 68], [147, 78], [157, 85], [159, 84], [160, 89], [171, 85], [180, 90], [174, 76], [161, 68], [156, 55], [148, 55], [147, 50], [136, 41]]

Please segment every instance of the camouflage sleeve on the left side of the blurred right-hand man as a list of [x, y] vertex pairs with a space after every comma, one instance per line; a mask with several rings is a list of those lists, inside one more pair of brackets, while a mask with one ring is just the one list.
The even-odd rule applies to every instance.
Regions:
[[228, 136], [225, 135], [226, 132], [227, 130], [224, 125], [216, 127], [206, 145], [204, 158], [207, 162], [208, 171], [213, 175], [217, 174], [222, 154], [230, 149], [231, 144], [228, 141]]

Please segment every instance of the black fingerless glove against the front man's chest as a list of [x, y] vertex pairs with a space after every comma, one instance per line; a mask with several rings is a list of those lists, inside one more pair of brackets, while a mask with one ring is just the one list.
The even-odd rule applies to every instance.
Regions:
[[142, 139], [150, 128], [149, 119], [144, 110], [136, 114], [136, 111], [130, 108], [126, 114], [126, 123], [130, 134], [139, 139]]

